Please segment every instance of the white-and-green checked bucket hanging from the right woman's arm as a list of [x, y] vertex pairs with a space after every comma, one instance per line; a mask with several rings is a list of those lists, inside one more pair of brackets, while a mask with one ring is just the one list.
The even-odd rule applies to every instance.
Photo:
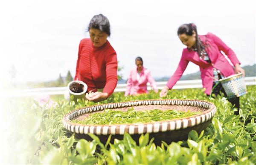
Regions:
[[235, 98], [247, 93], [243, 73], [218, 80], [224, 88], [227, 98]]

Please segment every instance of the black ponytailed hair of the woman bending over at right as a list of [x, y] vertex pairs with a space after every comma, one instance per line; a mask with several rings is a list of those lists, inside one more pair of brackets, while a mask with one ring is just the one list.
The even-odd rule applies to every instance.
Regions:
[[195, 41], [196, 41], [196, 48], [197, 48], [197, 52], [198, 52], [198, 55], [201, 54], [201, 50], [207, 46], [207, 45], [204, 45], [202, 42], [201, 42], [201, 39], [199, 38], [198, 36], [198, 33], [197, 33], [197, 29], [196, 29], [196, 25], [193, 24], [193, 23], [189, 23], [189, 24], [183, 24], [181, 25], [179, 28], [178, 28], [178, 31], [177, 31], [177, 34], [180, 35], [180, 34], [186, 34], [188, 36], [192, 36], [193, 34], [193, 31], [195, 31]]

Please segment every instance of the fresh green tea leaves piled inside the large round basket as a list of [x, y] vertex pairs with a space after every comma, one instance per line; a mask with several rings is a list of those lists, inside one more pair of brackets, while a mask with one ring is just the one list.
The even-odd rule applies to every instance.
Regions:
[[103, 112], [93, 113], [84, 121], [72, 120], [73, 123], [84, 125], [110, 125], [110, 124], [132, 124], [132, 123], [152, 123], [156, 121], [172, 120], [200, 114], [198, 112], [187, 112], [173, 110], [161, 111], [160, 109], [135, 111], [133, 107], [127, 112], [120, 110], [113, 111], [105, 109]]

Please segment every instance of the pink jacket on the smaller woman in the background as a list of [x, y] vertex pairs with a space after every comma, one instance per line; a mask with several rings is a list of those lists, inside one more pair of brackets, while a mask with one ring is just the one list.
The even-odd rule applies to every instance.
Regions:
[[140, 79], [137, 81], [137, 67], [131, 68], [125, 90], [125, 96], [135, 95], [139, 89], [148, 93], [147, 82], [150, 83], [153, 89], [157, 89], [157, 83], [151, 76], [150, 70], [147, 70], [145, 67], [143, 67], [140, 73]]

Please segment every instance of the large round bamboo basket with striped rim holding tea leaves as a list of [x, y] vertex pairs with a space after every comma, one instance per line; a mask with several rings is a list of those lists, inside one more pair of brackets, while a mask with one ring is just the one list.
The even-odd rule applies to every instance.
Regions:
[[[151, 110], [160, 109], [176, 109], [177, 111], [197, 112], [201, 110], [201, 114], [190, 117], [158, 121], [154, 123], [137, 123], [137, 124], [113, 124], [113, 125], [82, 125], [72, 123], [69, 120], [79, 119], [84, 120], [92, 113], [102, 112], [104, 109], [113, 109], [127, 111], [128, 108], [134, 107], [134, 110]], [[154, 143], [161, 144], [165, 141], [170, 144], [172, 141], [187, 140], [191, 130], [200, 133], [206, 129], [211, 122], [212, 117], [216, 113], [216, 107], [213, 103], [201, 100], [142, 100], [142, 101], [127, 101], [119, 103], [108, 103], [102, 105], [88, 106], [79, 108], [67, 113], [63, 117], [64, 127], [75, 132], [77, 136], [86, 140], [92, 140], [88, 133], [95, 134], [99, 137], [102, 143], [106, 143], [108, 136], [112, 134], [111, 143], [114, 139], [123, 139], [125, 132], [131, 134], [131, 137], [138, 143], [141, 134], [149, 133], [150, 139], [154, 137]]]

